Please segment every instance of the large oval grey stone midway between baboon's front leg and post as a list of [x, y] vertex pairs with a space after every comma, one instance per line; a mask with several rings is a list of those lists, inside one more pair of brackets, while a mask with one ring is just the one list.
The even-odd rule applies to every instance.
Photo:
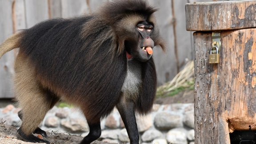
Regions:
[[169, 130], [171, 128], [182, 127], [182, 118], [180, 115], [168, 112], [159, 112], [155, 116], [155, 127], [159, 130]]

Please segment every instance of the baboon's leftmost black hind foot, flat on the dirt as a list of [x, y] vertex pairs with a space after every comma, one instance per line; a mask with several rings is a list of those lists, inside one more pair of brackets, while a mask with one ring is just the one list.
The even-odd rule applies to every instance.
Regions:
[[27, 141], [27, 142], [32, 142], [32, 143], [46, 143], [46, 144], [50, 144], [49, 141], [47, 140], [42, 140], [36, 136], [34, 136], [33, 134], [30, 135], [25, 135], [24, 132], [22, 132], [21, 129], [18, 129], [17, 131], [17, 135], [20, 139]]

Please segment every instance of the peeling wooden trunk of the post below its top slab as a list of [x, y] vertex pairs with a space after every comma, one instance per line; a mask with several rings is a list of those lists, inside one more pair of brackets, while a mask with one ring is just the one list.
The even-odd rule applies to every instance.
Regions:
[[194, 33], [196, 144], [229, 144], [229, 132], [256, 130], [256, 28], [220, 37], [220, 63], [208, 64], [212, 32]]

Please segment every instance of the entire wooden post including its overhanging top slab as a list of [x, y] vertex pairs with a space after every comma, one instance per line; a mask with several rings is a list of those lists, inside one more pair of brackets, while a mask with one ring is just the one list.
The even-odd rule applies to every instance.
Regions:
[[[194, 32], [195, 144], [230, 144], [234, 130], [256, 130], [256, 1], [186, 4]], [[220, 63], [209, 64], [212, 32]]]

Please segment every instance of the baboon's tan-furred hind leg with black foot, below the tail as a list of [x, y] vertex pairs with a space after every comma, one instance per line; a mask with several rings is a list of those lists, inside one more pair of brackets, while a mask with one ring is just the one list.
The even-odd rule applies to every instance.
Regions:
[[36, 78], [35, 69], [30, 60], [23, 58], [20, 53], [16, 58], [15, 71], [16, 99], [22, 108], [20, 112], [22, 124], [17, 135], [24, 141], [49, 144], [47, 140], [42, 140], [32, 133], [38, 132], [38, 125], [58, 98], [42, 87]]

